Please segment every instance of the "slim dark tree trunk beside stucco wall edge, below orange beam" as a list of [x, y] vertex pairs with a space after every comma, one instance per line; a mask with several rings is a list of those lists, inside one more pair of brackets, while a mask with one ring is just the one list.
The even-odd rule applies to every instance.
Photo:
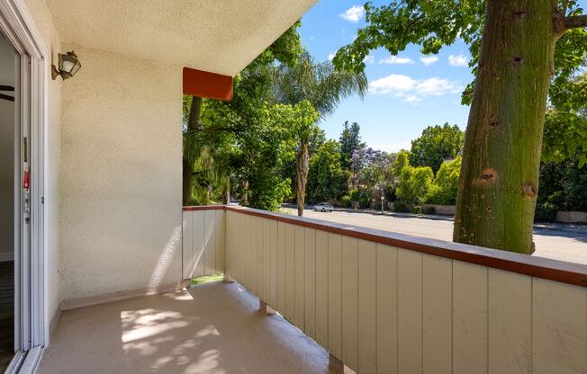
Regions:
[[[190, 106], [190, 114], [187, 120], [187, 132], [197, 131], [200, 128], [200, 114], [202, 111], [202, 98], [194, 96]], [[183, 180], [182, 180], [182, 200], [184, 205], [192, 203], [192, 191], [194, 189], [194, 137], [185, 138], [184, 135], [184, 152], [183, 152]], [[192, 152], [190, 152], [192, 148]]]

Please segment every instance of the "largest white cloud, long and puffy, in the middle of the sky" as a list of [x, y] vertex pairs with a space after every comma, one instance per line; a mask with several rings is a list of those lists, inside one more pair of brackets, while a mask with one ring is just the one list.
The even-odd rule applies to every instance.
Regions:
[[446, 78], [413, 79], [401, 74], [384, 76], [369, 83], [371, 94], [389, 94], [411, 103], [420, 102], [423, 96], [458, 94], [462, 90], [463, 87], [458, 82]]

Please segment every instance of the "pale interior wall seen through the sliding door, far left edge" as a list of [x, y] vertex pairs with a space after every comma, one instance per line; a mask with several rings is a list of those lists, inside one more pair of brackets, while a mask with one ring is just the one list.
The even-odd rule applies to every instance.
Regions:
[[[0, 85], [14, 86], [14, 49], [0, 35]], [[13, 93], [4, 93], [10, 94]], [[14, 102], [0, 99], [0, 261], [14, 259]]]

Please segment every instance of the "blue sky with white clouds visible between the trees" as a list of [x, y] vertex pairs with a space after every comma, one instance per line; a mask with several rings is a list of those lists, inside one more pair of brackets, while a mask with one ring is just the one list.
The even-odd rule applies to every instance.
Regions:
[[[314, 58], [326, 60], [353, 40], [357, 28], [365, 25], [363, 4], [320, 0], [303, 16], [303, 44]], [[409, 149], [429, 125], [448, 122], [465, 129], [469, 108], [460, 104], [460, 95], [473, 79], [466, 45], [457, 42], [436, 57], [422, 61], [418, 46], [409, 46], [397, 58], [385, 49], [372, 51], [366, 61], [369, 94], [364, 100], [348, 98], [321, 122], [327, 137], [339, 138], [344, 121], [356, 121], [369, 147], [389, 152]]]

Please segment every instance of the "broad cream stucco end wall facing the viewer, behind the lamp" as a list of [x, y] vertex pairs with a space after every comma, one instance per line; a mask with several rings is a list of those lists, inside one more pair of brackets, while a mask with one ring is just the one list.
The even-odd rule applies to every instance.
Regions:
[[181, 67], [80, 46], [63, 84], [61, 299], [181, 280]]

